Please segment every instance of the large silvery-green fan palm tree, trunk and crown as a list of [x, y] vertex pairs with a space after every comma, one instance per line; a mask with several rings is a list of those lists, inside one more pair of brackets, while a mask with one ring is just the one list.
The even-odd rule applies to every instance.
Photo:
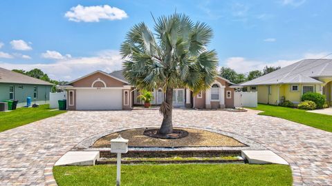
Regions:
[[207, 48], [213, 33], [205, 23], [177, 13], [154, 22], [155, 32], [142, 22], [127, 33], [120, 48], [123, 74], [139, 89], [163, 88], [163, 123], [158, 132], [171, 134], [173, 89], [187, 87], [194, 94], [207, 89], [217, 74], [218, 59]]

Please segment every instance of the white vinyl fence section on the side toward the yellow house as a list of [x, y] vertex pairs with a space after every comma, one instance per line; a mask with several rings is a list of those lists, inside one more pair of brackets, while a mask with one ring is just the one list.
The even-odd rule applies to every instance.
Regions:
[[234, 92], [235, 107], [257, 107], [257, 92]]

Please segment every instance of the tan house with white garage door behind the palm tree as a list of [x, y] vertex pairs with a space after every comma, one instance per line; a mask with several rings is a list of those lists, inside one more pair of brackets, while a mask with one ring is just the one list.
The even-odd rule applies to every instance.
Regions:
[[[142, 105], [138, 99], [140, 90], [130, 85], [122, 70], [108, 74], [100, 70], [82, 76], [62, 86], [67, 91], [68, 110], [130, 110], [133, 105]], [[223, 108], [234, 107], [234, 83], [216, 77], [211, 88], [193, 95], [187, 88], [174, 89], [174, 107]], [[163, 102], [160, 88], [151, 90], [153, 105]]]

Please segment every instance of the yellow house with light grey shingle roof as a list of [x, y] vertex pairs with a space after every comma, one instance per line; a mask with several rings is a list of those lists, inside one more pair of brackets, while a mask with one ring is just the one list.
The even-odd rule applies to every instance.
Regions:
[[332, 105], [332, 59], [304, 59], [284, 68], [241, 83], [249, 92], [257, 92], [258, 103], [295, 104], [306, 92], [319, 92]]

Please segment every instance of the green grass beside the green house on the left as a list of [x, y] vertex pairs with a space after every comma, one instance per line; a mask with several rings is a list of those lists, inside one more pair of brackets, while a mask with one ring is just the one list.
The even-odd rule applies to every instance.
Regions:
[[0, 132], [66, 112], [65, 110], [50, 111], [49, 107], [50, 105], [46, 104], [36, 108], [20, 107], [11, 112], [0, 112]]

